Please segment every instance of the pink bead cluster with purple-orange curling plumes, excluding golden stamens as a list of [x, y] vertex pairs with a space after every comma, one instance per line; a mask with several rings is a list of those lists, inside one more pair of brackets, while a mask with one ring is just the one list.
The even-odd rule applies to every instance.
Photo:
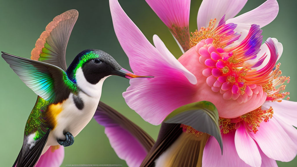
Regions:
[[[221, 39], [228, 37], [232, 42], [238, 39], [237, 33], [233, 31], [236, 25], [229, 26], [221, 20], [218, 27], [224, 30], [219, 31]], [[213, 33], [218, 34], [216, 31], [217, 29]], [[263, 68], [255, 69], [263, 64], [268, 56], [267, 53], [257, 55], [262, 44], [261, 33], [260, 26], [254, 24], [247, 37], [234, 47], [225, 47], [225, 45], [218, 47], [220, 45], [217, 44], [215, 36], [201, 40], [197, 44], [196, 50], [201, 55], [199, 61], [207, 66], [203, 70], [203, 75], [207, 77], [206, 83], [214, 92], [223, 94], [224, 99], [232, 98], [238, 103], [245, 103], [252, 98], [253, 94], [262, 95], [262, 86], [272, 81], [271, 72], [278, 58], [277, 48], [272, 39], [269, 38], [266, 41], [270, 51], [269, 62]], [[230, 44], [230, 42], [225, 43]], [[248, 60], [256, 58], [258, 60], [255, 63], [248, 63]]]

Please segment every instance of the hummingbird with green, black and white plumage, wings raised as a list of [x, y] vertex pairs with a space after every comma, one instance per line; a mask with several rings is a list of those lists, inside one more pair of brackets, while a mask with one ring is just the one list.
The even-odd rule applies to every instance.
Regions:
[[77, 10], [56, 16], [31, 52], [31, 59], [5, 52], [2, 58], [37, 95], [25, 125], [23, 146], [14, 166], [33, 167], [50, 146], [71, 146], [99, 103], [102, 84], [111, 75], [135, 75], [97, 49], [80, 52], [67, 68], [65, 54]]

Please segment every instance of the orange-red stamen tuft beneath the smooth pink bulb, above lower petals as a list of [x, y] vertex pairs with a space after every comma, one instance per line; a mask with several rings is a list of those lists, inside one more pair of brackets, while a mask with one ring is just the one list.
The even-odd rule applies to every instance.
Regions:
[[238, 129], [240, 126], [245, 126], [247, 130], [257, 133], [258, 127], [262, 121], [267, 122], [272, 118], [273, 109], [270, 107], [263, 110], [262, 106], [237, 118], [219, 118], [221, 133], [229, 133]]

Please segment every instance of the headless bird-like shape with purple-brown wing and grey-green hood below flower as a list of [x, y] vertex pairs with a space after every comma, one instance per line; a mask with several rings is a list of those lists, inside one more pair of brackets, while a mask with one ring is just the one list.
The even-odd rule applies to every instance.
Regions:
[[219, 114], [207, 101], [177, 108], [162, 122], [157, 140], [105, 103], [99, 102], [94, 119], [119, 158], [129, 167], [201, 167], [209, 137], [223, 149]]

